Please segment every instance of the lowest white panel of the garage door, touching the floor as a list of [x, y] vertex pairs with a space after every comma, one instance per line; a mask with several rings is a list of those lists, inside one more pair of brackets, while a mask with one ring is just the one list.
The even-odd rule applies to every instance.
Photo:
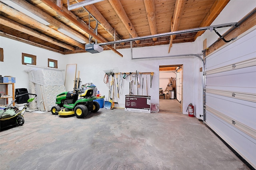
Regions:
[[256, 161], [256, 140], [244, 132], [237, 130], [234, 126], [224, 122], [214, 114], [207, 112], [207, 125], [225, 140], [240, 155], [246, 155], [247, 161], [255, 165]]

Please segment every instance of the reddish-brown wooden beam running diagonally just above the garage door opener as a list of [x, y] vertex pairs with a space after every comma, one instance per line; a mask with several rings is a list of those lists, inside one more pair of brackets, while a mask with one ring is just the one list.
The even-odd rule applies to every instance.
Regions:
[[[107, 42], [106, 40], [100, 38], [98, 35], [94, 34], [91, 30], [89, 30], [88, 26], [86, 26], [86, 24], [84, 24], [84, 22], [82, 20], [80, 20], [77, 16], [74, 16], [74, 14], [72, 12], [67, 11], [68, 9], [66, 9], [66, 8], [61, 9], [51, 0], [41, 0], [41, 1], [44, 4], [48, 5], [50, 8], [52, 8], [53, 10], [55, 10], [56, 12], [58, 12], [58, 14], [64, 16], [65, 18], [70, 20], [70, 22], [72, 22], [73, 24], [75, 24], [76, 26], [78, 26], [79, 28], [81, 28], [82, 30], [84, 30], [85, 32], [90, 34], [91, 36], [93, 36], [96, 40], [98, 40], [100, 42]], [[121, 53], [119, 53], [118, 51], [116, 51], [116, 49], [114, 49], [111, 45], [106, 45], [106, 46], [109, 49], [111, 49], [112, 51], [114, 51], [115, 53], [117, 53], [118, 55], [120, 55], [121, 57], [123, 57], [123, 55]]]

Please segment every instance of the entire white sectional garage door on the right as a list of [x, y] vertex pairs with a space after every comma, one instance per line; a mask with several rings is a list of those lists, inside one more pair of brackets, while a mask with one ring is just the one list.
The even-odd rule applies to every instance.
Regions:
[[256, 29], [206, 56], [205, 123], [256, 168]]

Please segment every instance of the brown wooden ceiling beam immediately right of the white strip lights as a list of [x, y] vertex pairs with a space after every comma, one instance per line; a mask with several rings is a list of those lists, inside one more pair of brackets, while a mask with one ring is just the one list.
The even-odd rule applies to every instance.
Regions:
[[[52, 16], [46, 14], [45, 12], [43, 12], [42, 10], [40, 10], [39, 8], [33, 6], [32, 4], [24, 1], [24, 0], [15, 0], [13, 1], [15, 4], [18, 4], [19, 6], [21, 6], [22, 8], [25, 8], [26, 10], [32, 12], [33, 14], [35, 14], [36, 16], [39, 16], [40, 18], [46, 20], [47, 22], [49, 22], [50, 24], [58, 27], [58, 28], [62, 28], [63, 30], [66, 30], [67, 32], [69, 32], [70, 34], [80, 38], [81, 40], [83, 40], [86, 43], [89, 43], [88, 38], [86, 38], [85, 36], [83, 36], [82, 34], [76, 32], [75, 30], [73, 30], [72, 28], [66, 26], [65, 24], [63, 24], [62, 22], [56, 20], [55, 18], [53, 18]], [[61, 2], [61, 1], [57, 1], [57, 2]]]

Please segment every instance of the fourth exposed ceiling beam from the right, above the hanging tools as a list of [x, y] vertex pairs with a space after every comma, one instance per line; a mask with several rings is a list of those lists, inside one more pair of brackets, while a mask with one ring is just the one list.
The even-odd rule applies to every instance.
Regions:
[[[127, 14], [124, 11], [124, 8], [119, 0], [108, 0], [111, 6], [114, 8], [116, 14], [124, 24], [125, 28], [128, 30], [132, 38], [138, 37], [138, 34], [136, 33], [134, 26], [132, 25], [132, 22], [128, 18]], [[135, 41], [137, 44], [140, 43], [140, 40]]]

